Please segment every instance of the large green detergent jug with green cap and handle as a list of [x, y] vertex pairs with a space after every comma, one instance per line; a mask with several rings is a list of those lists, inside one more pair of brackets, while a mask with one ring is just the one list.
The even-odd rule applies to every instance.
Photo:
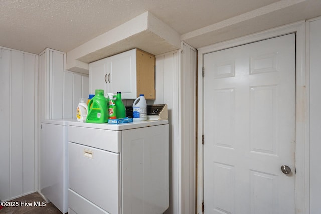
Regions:
[[95, 96], [88, 103], [87, 123], [107, 123], [108, 104], [103, 89], [96, 89]]

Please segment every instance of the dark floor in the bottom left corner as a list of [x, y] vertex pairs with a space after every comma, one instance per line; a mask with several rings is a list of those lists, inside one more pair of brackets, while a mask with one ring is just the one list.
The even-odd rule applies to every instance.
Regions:
[[[0, 210], [0, 214], [61, 214], [59, 209], [57, 209], [52, 203], [43, 203], [44, 199], [37, 192], [16, 198], [11, 200], [11, 202], [13, 202], [12, 204], [15, 206], [6, 206], [2, 208]], [[8, 203], [8, 205], [10, 205], [10, 203]]]

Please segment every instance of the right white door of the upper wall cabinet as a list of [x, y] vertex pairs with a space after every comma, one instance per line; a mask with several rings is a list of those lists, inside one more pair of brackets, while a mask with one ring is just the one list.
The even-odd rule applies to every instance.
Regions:
[[109, 57], [108, 92], [121, 92], [123, 99], [136, 99], [136, 49]]

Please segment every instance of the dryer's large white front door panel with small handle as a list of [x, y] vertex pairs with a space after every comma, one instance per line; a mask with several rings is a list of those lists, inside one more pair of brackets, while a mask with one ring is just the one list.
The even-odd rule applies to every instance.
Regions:
[[[120, 213], [119, 156], [68, 142], [69, 189], [108, 213]], [[78, 213], [77, 206], [70, 208]]]

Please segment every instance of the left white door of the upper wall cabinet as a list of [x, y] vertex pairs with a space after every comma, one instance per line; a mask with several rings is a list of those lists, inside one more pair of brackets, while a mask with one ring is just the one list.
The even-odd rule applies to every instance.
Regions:
[[95, 94], [96, 89], [104, 89], [106, 94], [108, 91], [107, 74], [108, 58], [98, 60], [89, 64], [89, 93]]

